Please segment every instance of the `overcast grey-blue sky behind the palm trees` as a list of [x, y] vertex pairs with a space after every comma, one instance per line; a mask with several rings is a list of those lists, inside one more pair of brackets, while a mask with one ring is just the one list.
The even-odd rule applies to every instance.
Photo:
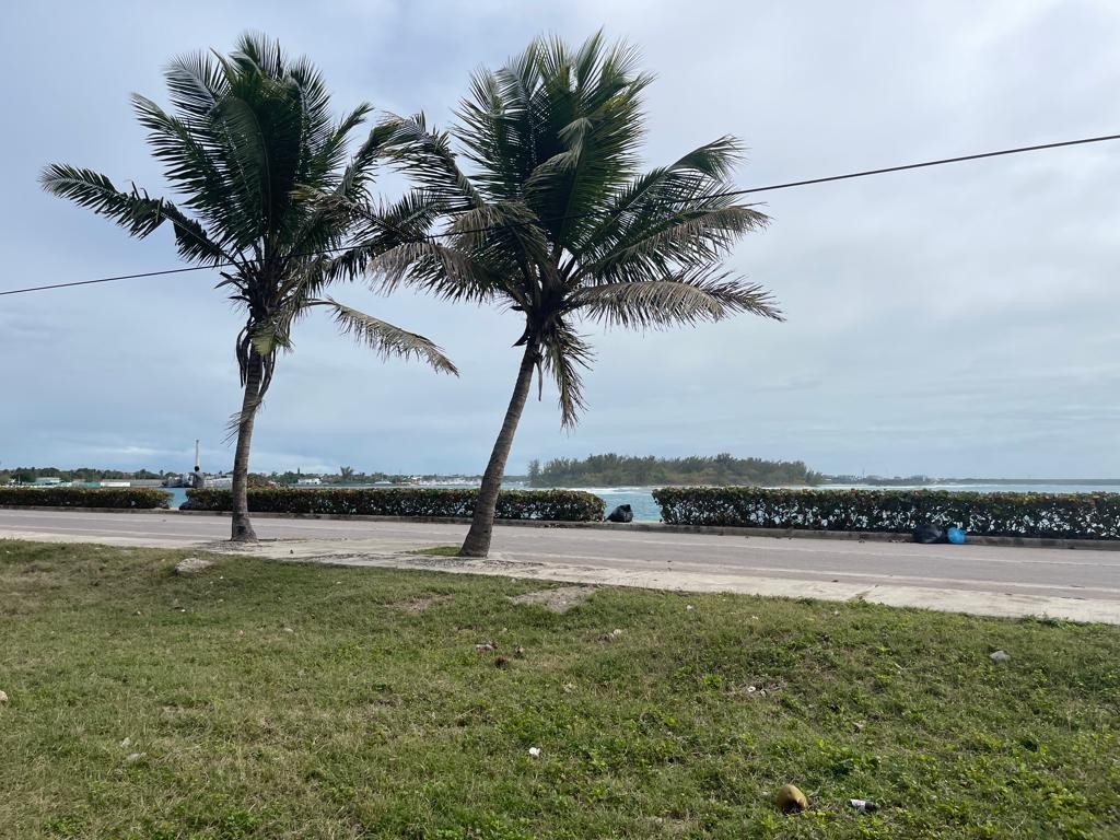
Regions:
[[[470, 72], [535, 35], [603, 27], [637, 45], [651, 165], [725, 133], [773, 184], [1120, 131], [1109, 0], [15, 0], [0, 26], [0, 289], [175, 268], [47, 196], [65, 161], [164, 192], [129, 94], [166, 103], [172, 56], [245, 29], [361, 101], [447, 125]], [[572, 432], [532, 400], [510, 472], [617, 451], [803, 459], [830, 473], [1120, 475], [1120, 143], [766, 194], [730, 260], [785, 324], [739, 317], [635, 334], [587, 327], [598, 358]], [[398, 184], [384, 185], [389, 193]], [[0, 297], [0, 464], [227, 468], [240, 318], [207, 272]], [[480, 473], [513, 386], [516, 315], [362, 286], [336, 297], [441, 344], [461, 379], [381, 363], [299, 325], [252, 468]]]

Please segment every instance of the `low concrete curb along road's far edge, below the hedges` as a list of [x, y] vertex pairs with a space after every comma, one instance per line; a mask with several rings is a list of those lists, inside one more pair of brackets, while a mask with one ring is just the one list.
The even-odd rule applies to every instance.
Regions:
[[[50, 507], [43, 505], [0, 505], [4, 511], [46, 511], [73, 513], [134, 513], [164, 516], [228, 516], [228, 511], [178, 511], [162, 507]], [[333, 513], [253, 513], [253, 519], [278, 520], [342, 520], [354, 522], [417, 522], [469, 525], [460, 516], [367, 516]], [[799, 540], [856, 540], [859, 542], [911, 542], [909, 534], [881, 531], [809, 531], [796, 528], [736, 528], [731, 525], [670, 525], [664, 522], [557, 522], [551, 520], [497, 520], [494, 524], [513, 528], [577, 528], [601, 531], [646, 531], [665, 534], [709, 534], [713, 536], [771, 536]], [[1024, 549], [1088, 549], [1092, 551], [1120, 551], [1120, 540], [1063, 540], [1036, 536], [973, 536], [972, 545], [1002, 545]]]

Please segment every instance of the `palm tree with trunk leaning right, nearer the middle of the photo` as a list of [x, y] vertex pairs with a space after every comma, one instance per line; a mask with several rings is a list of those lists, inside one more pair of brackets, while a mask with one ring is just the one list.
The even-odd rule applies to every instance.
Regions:
[[[451, 134], [428, 130], [422, 115], [391, 127], [390, 156], [416, 181], [431, 225], [444, 227], [367, 268], [385, 288], [408, 282], [524, 316], [516, 384], [463, 556], [489, 549], [533, 372], [556, 381], [563, 426], [585, 408], [580, 368], [592, 349], [577, 318], [641, 329], [736, 312], [781, 319], [768, 295], [722, 265], [740, 235], [768, 221], [726, 195], [738, 142], [724, 137], [638, 174], [650, 81], [631, 47], [607, 46], [601, 34], [576, 50], [539, 38], [496, 73], [474, 76]], [[452, 140], [469, 170], [459, 167]], [[368, 235], [379, 232], [373, 225]]]

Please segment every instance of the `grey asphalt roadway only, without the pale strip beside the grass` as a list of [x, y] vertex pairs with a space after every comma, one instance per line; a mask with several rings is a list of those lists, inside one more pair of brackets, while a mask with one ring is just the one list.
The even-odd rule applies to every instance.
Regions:
[[[351, 552], [446, 545], [466, 532], [457, 524], [284, 519], [256, 519], [254, 528], [262, 540], [329, 542]], [[228, 529], [218, 516], [0, 510], [0, 538], [187, 548], [224, 540]], [[328, 549], [323, 545], [323, 553]], [[541, 568], [612, 570], [619, 581], [672, 572], [1120, 604], [1117, 551], [498, 526], [492, 556]]]

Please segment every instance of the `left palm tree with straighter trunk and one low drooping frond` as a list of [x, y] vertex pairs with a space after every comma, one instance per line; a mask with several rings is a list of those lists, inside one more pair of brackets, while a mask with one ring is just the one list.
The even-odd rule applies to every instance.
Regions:
[[[143, 237], [165, 222], [187, 262], [222, 269], [218, 288], [245, 316], [236, 339], [244, 394], [231, 421], [232, 539], [256, 539], [246, 496], [253, 422], [276, 371], [291, 349], [293, 323], [326, 309], [339, 328], [382, 356], [414, 356], [437, 371], [454, 365], [423, 336], [344, 306], [324, 293], [336, 276], [336, 252], [355, 224], [353, 202], [367, 202], [386, 129], [374, 129], [348, 155], [349, 139], [372, 111], [358, 105], [330, 114], [323, 77], [307, 58], [289, 58], [279, 44], [245, 35], [228, 56], [176, 58], [166, 72], [174, 114], [133, 95], [151, 153], [164, 165], [181, 208], [132, 185], [118, 189], [90, 169], [47, 167], [43, 187], [108, 216]], [[323, 200], [333, 196], [337, 200]], [[391, 216], [392, 208], [386, 208]], [[390, 230], [390, 228], [385, 228]], [[391, 233], [367, 236], [363, 253], [393, 244]]]

